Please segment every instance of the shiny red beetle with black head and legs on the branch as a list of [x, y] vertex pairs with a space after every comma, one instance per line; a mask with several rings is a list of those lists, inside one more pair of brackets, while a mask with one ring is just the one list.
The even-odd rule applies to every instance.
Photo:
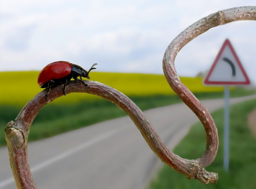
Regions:
[[[66, 61], [53, 62], [42, 69], [38, 76], [37, 83], [41, 88], [48, 88], [45, 99], [47, 99], [52, 86], [60, 85], [62, 83], [64, 83], [63, 95], [66, 96], [66, 83], [72, 78], [74, 78], [74, 80], [79, 80], [81, 83], [88, 86], [88, 84], [82, 80], [82, 77], [90, 79], [89, 72], [96, 69], [94, 67], [95, 65], [97, 64], [93, 64], [90, 70], [86, 71], [81, 66], [70, 64]], [[80, 79], [77, 78], [78, 76]]]

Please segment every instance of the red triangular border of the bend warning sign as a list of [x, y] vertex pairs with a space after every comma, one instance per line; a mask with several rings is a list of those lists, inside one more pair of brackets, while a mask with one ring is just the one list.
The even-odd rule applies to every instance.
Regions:
[[[216, 66], [220, 56], [222, 55], [223, 50], [226, 47], [226, 45], [229, 46], [229, 48], [230, 48], [230, 50], [231, 50], [235, 60], [237, 61], [238, 66], [241, 69], [242, 74], [244, 75], [244, 77], [246, 79], [245, 81], [209, 81], [209, 78], [210, 78], [210, 76], [211, 76], [211, 74], [212, 74], [212, 72], [213, 72], [213, 70], [214, 70], [214, 68], [215, 68], [215, 66]], [[240, 60], [238, 59], [238, 56], [237, 56], [233, 46], [231, 45], [229, 39], [226, 39], [224, 41], [224, 43], [223, 43], [223, 45], [222, 45], [222, 47], [221, 47], [221, 49], [220, 49], [216, 59], [214, 60], [214, 63], [212, 65], [212, 67], [210, 68], [209, 73], [207, 74], [207, 76], [206, 76], [206, 78], [204, 80], [204, 84], [206, 84], [206, 85], [249, 85], [250, 84], [250, 80], [249, 80], [249, 78], [248, 78], [248, 76], [247, 76], [247, 74], [246, 74], [246, 72], [245, 72], [245, 70], [244, 70]]]

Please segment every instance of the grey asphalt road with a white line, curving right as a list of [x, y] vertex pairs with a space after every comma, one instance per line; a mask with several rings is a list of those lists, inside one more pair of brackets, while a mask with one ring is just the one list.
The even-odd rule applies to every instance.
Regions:
[[[230, 102], [249, 98], [256, 96]], [[215, 99], [202, 103], [212, 112], [224, 102]], [[198, 122], [184, 104], [155, 108], [145, 114], [170, 149]], [[162, 166], [127, 116], [31, 142], [28, 157], [38, 189], [145, 188]], [[14, 189], [6, 147], [0, 148], [0, 158], [0, 189]]]

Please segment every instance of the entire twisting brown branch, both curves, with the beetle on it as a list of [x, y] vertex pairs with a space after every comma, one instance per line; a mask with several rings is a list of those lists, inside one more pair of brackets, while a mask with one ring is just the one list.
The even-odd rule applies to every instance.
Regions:
[[[150, 148], [164, 163], [168, 164], [177, 172], [184, 174], [189, 179], [198, 179], [202, 183], [216, 183], [218, 174], [207, 172], [204, 167], [211, 164], [216, 156], [218, 150], [217, 129], [208, 110], [194, 97], [187, 87], [180, 82], [175, 71], [174, 60], [178, 51], [193, 38], [212, 27], [237, 20], [256, 20], [256, 7], [238, 7], [223, 10], [195, 22], [171, 42], [164, 55], [163, 69], [168, 83], [186, 105], [198, 116], [206, 130], [206, 151], [203, 156], [197, 160], [183, 159], [174, 154], [163, 143], [154, 127], [138, 106], [114, 88], [99, 82], [87, 81], [90, 86], [90, 88], [88, 88], [78, 81], [71, 81], [67, 85], [66, 93], [85, 92], [98, 95], [116, 104], [130, 116]], [[38, 95], [24, 106], [15, 121], [11, 121], [7, 124], [5, 134], [10, 156], [10, 165], [18, 189], [36, 188], [27, 159], [27, 141], [30, 125], [44, 105], [63, 95], [62, 89], [62, 85], [52, 87], [47, 100], [45, 100], [46, 90], [38, 93]]]

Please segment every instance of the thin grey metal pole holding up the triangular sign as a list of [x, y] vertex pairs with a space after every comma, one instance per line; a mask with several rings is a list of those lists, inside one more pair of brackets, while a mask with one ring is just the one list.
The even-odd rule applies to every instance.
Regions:
[[224, 168], [229, 169], [229, 86], [224, 90]]

